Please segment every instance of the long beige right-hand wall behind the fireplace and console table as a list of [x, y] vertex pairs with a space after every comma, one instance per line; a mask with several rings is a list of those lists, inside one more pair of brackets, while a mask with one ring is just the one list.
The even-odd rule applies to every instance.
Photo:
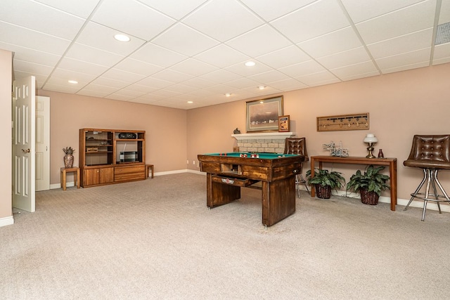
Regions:
[[[322, 145], [330, 141], [342, 141], [351, 156], [366, 156], [367, 145], [362, 140], [366, 133], [375, 133], [379, 140], [375, 155], [382, 148], [385, 157], [397, 157], [399, 198], [409, 199], [422, 179], [422, 171], [404, 167], [403, 161], [409, 155], [414, 134], [450, 133], [449, 82], [447, 63], [291, 91], [283, 93], [284, 113], [290, 115], [291, 131], [307, 138], [310, 156], [328, 155]], [[369, 113], [369, 130], [316, 131], [316, 117], [360, 112]], [[238, 127], [245, 133], [245, 100], [188, 110], [187, 124], [190, 162], [200, 153], [232, 151], [236, 145], [231, 138], [233, 129]], [[328, 167], [344, 172], [347, 180], [356, 171], [355, 166]], [[188, 168], [198, 169], [197, 162]], [[450, 187], [449, 175], [442, 172], [439, 176], [444, 186]]]

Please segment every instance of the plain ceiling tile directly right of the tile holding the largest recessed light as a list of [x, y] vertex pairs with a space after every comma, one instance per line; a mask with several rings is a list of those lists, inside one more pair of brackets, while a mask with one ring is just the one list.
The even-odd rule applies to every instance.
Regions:
[[130, 57], [160, 67], [170, 67], [171, 65], [175, 65], [188, 58], [180, 53], [150, 43], [139, 48], [139, 50], [131, 54]]

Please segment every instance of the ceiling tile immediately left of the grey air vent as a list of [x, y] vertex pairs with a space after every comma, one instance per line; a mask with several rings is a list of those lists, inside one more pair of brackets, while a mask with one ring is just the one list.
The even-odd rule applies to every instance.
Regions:
[[373, 58], [385, 58], [387, 56], [427, 48], [432, 43], [432, 37], [433, 30], [429, 28], [411, 34], [405, 34], [401, 37], [369, 44], [367, 48], [371, 51]]

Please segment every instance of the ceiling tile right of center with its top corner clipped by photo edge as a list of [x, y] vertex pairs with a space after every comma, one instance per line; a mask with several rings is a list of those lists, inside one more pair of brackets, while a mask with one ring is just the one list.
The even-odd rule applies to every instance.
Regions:
[[[318, 17], [320, 16], [320, 17]], [[350, 25], [337, 0], [321, 0], [271, 22], [294, 43]]]

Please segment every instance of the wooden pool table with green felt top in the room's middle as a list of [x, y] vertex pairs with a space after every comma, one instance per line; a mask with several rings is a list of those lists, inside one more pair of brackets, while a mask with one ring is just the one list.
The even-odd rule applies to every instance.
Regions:
[[198, 155], [207, 173], [207, 207], [240, 199], [241, 187], [261, 182], [262, 223], [272, 226], [295, 212], [295, 174], [303, 155], [224, 152]]

